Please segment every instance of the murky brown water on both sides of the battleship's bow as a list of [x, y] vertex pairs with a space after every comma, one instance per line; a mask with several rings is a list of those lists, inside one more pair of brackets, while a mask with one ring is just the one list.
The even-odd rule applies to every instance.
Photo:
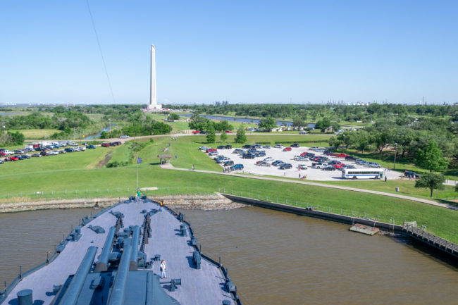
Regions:
[[[44, 261], [90, 211], [0, 215], [0, 280]], [[202, 251], [222, 256], [245, 305], [458, 304], [457, 270], [391, 237], [254, 207], [182, 212]]]

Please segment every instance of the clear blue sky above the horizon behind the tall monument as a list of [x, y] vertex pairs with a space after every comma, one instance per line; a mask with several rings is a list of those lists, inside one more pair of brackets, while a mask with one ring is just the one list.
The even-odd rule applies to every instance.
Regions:
[[[458, 1], [89, 0], [117, 104], [458, 101]], [[0, 104], [111, 104], [85, 0], [1, 1]]]

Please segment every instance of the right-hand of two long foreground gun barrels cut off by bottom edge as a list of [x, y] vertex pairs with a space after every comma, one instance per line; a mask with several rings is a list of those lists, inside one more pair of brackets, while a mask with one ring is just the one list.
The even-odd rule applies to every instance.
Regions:
[[113, 289], [111, 290], [108, 305], [123, 305], [124, 304], [124, 290], [125, 283], [128, 280], [130, 253], [132, 246], [127, 240], [124, 242], [124, 251], [121, 256], [116, 278], [113, 282]]

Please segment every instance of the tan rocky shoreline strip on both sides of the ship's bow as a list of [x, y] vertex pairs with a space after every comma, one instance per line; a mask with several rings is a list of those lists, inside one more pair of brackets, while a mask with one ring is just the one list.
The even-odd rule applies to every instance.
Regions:
[[[49, 201], [21, 201], [13, 203], [1, 203], [0, 213], [18, 213], [25, 211], [38, 211], [57, 208], [106, 208], [117, 204], [119, 201], [127, 200], [128, 197], [118, 198], [94, 198], [94, 199], [56, 199]], [[239, 204], [230, 199], [216, 195], [199, 195], [199, 196], [163, 196], [154, 198], [163, 200], [164, 204], [171, 208], [183, 208], [203, 211], [230, 210], [233, 208], [242, 208], [245, 204]]]

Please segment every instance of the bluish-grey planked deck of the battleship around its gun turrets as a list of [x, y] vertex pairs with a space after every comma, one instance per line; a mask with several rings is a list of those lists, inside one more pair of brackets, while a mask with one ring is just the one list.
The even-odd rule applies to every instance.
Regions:
[[[180, 232], [182, 221], [173, 211], [165, 207], [161, 208], [154, 201], [144, 199], [124, 201], [107, 210], [123, 213], [124, 228], [130, 225], [141, 226], [145, 215], [142, 211], [159, 210], [151, 216], [151, 237], [148, 243], [144, 244], [144, 253], [147, 255], [147, 261], [160, 254], [161, 259], [165, 259], [167, 263], [168, 280], [181, 279], [181, 286], [178, 286], [174, 292], [165, 289], [166, 293], [181, 305], [240, 304], [240, 301], [234, 301], [233, 295], [225, 289], [227, 274], [218, 263], [202, 256], [200, 268], [195, 268], [192, 256], [197, 247], [193, 247], [190, 242], [192, 230], [186, 223], [187, 237], [183, 237]], [[35, 300], [41, 301], [39, 304], [51, 304], [56, 295], [52, 292], [53, 285], [63, 285], [70, 275], [76, 273], [88, 247], [97, 247], [95, 256], [97, 262], [109, 229], [116, 225], [116, 220], [118, 218], [109, 211], [94, 217], [81, 227], [81, 237], [78, 241], [68, 242], [54, 261], [23, 277], [8, 292], [1, 305], [18, 304], [17, 293], [25, 289], [33, 291], [34, 304]], [[97, 234], [89, 228], [89, 225], [98, 225], [104, 228], [105, 232]], [[159, 261], [153, 262], [152, 270], [156, 274], [159, 274], [159, 263]], [[164, 284], [163, 287], [168, 286]]]

